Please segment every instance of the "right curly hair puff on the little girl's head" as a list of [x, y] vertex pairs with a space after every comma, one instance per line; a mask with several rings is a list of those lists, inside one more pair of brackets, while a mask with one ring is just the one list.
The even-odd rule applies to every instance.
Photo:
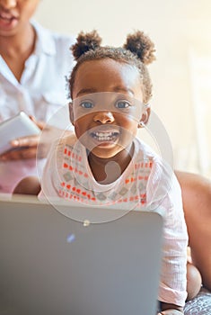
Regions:
[[136, 31], [134, 34], [128, 34], [123, 48], [133, 52], [145, 65], [155, 60], [154, 43], [145, 35], [144, 31]]

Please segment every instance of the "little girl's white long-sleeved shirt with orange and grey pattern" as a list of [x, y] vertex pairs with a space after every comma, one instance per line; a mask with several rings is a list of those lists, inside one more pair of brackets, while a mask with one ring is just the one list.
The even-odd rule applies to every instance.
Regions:
[[158, 300], [184, 306], [188, 234], [180, 185], [170, 166], [151, 148], [134, 139], [127, 169], [110, 184], [98, 183], [77, 140], [63, 139], [51, 148], [42, 176], [40, 198], [163, 212], [163, 262]]

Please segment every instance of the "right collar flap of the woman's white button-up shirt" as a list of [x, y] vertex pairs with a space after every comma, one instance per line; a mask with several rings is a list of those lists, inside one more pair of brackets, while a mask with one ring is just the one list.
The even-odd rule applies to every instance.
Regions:
[[55, 55], [56, 47], [52, 33], [34, 20], [31, 21], [31, 25], [34, 27], [37, 34], [34, 54], [40, 55], [40, 53], [45, 53], [47, 55]]

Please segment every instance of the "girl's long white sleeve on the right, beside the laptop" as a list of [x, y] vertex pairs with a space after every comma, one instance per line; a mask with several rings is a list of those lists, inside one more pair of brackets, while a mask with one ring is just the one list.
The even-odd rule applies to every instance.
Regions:
[[163, 259], [158, 299], [184, 306], [187, 298], [188, 233], [180, 184], [170, 166], [154, 164], [147, 192], [151, 208], [162, 210]]

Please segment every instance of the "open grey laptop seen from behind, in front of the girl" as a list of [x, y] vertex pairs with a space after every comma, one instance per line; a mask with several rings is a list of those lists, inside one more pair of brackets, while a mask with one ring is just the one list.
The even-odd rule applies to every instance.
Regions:
[[156, 314], [163, 217], [60, 207], [1, 198], [0, 315]]

